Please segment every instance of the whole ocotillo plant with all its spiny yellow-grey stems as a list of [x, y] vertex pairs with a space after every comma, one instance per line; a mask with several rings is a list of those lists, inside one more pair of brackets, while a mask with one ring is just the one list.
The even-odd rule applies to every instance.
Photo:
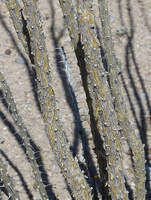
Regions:
[[[101, 197], [97, 194], [97, 183], [93, 177], [89, 159], [85, 158], [89, 171], [88, 183], [81, 172], [77, 158], [73, 157], [67, 142], [66, 134], [60, 123], [56, 105], [55, 92], [52, 87], [51, 67], [45, 45], [40, 12], [36, 0], [6, 0], [14, 28], [22, 45], [28, 54], [37, 85], [37, 95], [41, 113], [45, 122], [47, 136], [50, 141], [55, 159], [70, 189], [71, 196], [78, 200], [89, 199], [128, 199], [123, 174], [123, 149], [121, 137], [125, 137], [132, 151], [134, 164], [135, 193], [134, 198], [145, 199], [145, 159], [144, 149], [140, 138], [129, 125], [128, 115], [121, 92], [118, 78], [110, 20], [108, 1], [98, 0], [100, 23], [102, 25], [102, 44], [96, 34], [95, 17], [92, 0], [59, 0], [64, 20], [73, 43], [74, 52], [81, 72], [83, 88], [89, 108], [90, 126], [99, 166], [101, 179]], [[23, 7], [21, 5], [23, 4]], [[107, 69], [104, 68], [101, 48], [105, 52]], [[62, 50], [60, 53], [63, 54]], [[62, 56], [64, 59], [64, 56]], [[67, 65], [66, 62], [64, 62]], [[68, 71], [66, 66], [66, 71]], [[69, 78], [70, 88], [72, 84]], [[20, 137], [33, 168], [42, 199], [50, 199], [41, 180], [30, 138], [28, 137], [23, 120], [18, 114], [5, 78], [0, 74], [0, 83], [4, 98], [8, 102], [14, 122], [18, 126]], [[72, 90], [74, 93], [74, 91]], [[75, 105], [75, 109], [77, 109]], [[79, 122], [79, 118], [77, 119]], [[82, 133], [85, 140], [86, 137]], [[85, 149], [84, 149], [85, 151]], [[139, 164], [138, 164], [139, 163]], [[19, 199], [13, 181], [8, 175], [5, 164], [0, 161], [0, 180], [11, 199]], [[91, 181], [92, 180], [92, 181]], [[10, 190], [10, 186], [12, 190]], [[96, 192], [96, 193], [95, 193]]]

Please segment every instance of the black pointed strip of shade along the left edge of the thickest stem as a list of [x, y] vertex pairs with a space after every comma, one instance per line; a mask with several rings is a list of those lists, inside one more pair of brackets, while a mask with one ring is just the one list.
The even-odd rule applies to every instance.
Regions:
[[[99, 191], [100, 194], [102, 195], [102, 199], [103, 200], [110, 200], [111, 196], [109, 195], [109, 188], [108, 186], [105, 186], [105, 183], [108, 181], [108, 173], [107, 173], [107, 159], [106, 157], [103, 157], [101, 155], [105, 155], [105, 149], [103, 146], [103, 140], [100, 137], [100, 133], [98, 132], [98, 128], [97, 128], [97, 121], [95, 119], [94, 116], [94, 111], [93, 111], [93, 104], [92, 104], [92, 99], [91, 96], [89, 94], [89, 90], [88, 90], [88, 74], [89, 72], [86, 69], [86, 63], [84, 59], [81, 58], [85, 58], [85, 53], [83, 50], [83, 45], [81, 44], [81, 41], [79, 40], [79, 43], [77, 44], [77, 49], [76, 51], [76, 55], [77, 56], [77, 60], [78, 60], [78, 65], [80, 67], [80, 72], [81, 72], [81, 77], [82, 77], [82, 83], [83, 83], [83, 87], [85, 88], [85, 93], [86, 93], [86, 101], [89, 107], [89, 114], [90, 114], [90, 127], [91, 127], [91, 131], [93, 133], [93, 135], [95, 136], [94, 138], [94, 144], [95, 144], [95, 148], [93, 149], [95, 154], [98, 157], [99, 160], [99, 173], [101, 175], [101, 179], [98, 179], [96, 182], [96, 185], [94, 185], [96, 188], [95, 189], [99, 189], [98, 184], [101, 186], [101, 190]], [[101, 52], [100, 52], [101, 53]], [[102, 52], [103, 53], [103, 52]], [[101, 118], [101, 117], [100, 117]], [[100, 154], [101, 152], [101, 154]], [[93, 164], [94, 165], [94, 164]], [[95, 167], [95, 166], [94, 166]], [[96, 169], [95, 169], [96, 170]], [[96, 193], [97, 194], [97, 193]], [[97, 195], [94, 197], [94, 199], [98, 199]]]

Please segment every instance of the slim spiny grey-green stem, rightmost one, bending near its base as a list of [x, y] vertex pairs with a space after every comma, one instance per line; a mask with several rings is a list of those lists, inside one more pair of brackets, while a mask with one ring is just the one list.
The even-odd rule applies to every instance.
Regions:
[[[135, 196], [138, 199], [145, 199], [145, 157], [144, 148], [139, 136], [136, 135], [128, 119], [126, 107], [122, 95], [121, 85], [118, 78], [118, 64], [115, 58], [115, 52], [112, 42], [110, 21], [108, 14], [108, 1], [98, 0], [100, 18], [102, 23], [103, 42], [105, 47], [105, 57], [108, 65], [109, 84], [111, 94], [114, 98], [114, 107], [118, 116], [118, 124], [126, 137], [132, 150], [135, 175]], [[139, 163], [139, 164], [138, 164]]]

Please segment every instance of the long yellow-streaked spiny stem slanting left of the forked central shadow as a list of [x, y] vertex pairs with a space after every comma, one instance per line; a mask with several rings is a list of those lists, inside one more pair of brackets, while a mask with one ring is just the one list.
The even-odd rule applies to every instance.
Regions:
[[[45, 46], [45, 36], [36, 0], [24, 0], [23, 16], [30, 38], [31, 55], [33, 55], [37, 93], [42, 116], [56, 161], [61, 168], [67, 184], [75, 199], [90, 199], [90, 188], [82, 174], [78, 161], [73, 158], [67, 137], [62, 128], [56, 107], [55, 93], [51, 86], [49, 59]], [[72, 14], [72, 13], [71, 13]]]

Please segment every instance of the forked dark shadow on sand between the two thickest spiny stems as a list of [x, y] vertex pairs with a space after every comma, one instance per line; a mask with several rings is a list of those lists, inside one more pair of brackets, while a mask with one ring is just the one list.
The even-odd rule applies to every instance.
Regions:
[[[79, 113], [79, 108], [78, 108], [78, 102], [76, 99], [76, 95], [75, 95], [75, 91], [74, 88], [72, 87], [72, 84], [69, 82], [69, 78], [68, 78], [68, 74], [66, 73], [67, 70], [65, 69], [68, 63], [67, 63], [67, 58], [66, 58], [66, 53], [64, 51], [64, 47], [59, 45], [59, 40], [61, 39], [61, 37], [64, 34], [65, 30], [62, 30], [61, 34], [57, 37], [55, 34], [55, 9], [54, 9], [54, 2], [53, 0], [49, 1], [50, 4], [50, 9], [51, 9], [51, 27], [50, 27], [50, 33], [51, 33], [51, 37], [53, 40], [53, 46], [56, 52], [56, 57], [55, 57], [55, 64], [58, 70], [58, 73], [60, 75], [60, 79], [62, 81], [62, 85], [64, 87], [64, 91], [65, 91], [65, 97], [67, 100], [67, 103], [70, 107], [70, 110], [72, 111], [73, 117], [74, 117], [74, 124], [75, 124], [75, 129], [73, 130], [74, 133], [74, 141], [73, 144], [70, 146], [70, 150], [73, 154], [73, 157], [75, 157], [78, 153], [78, 146], [79, 146], [79, 142], [82, 142], [82, 148], [84, 151], [84, 158], [86, 159], [86, 163], [87, 163], [87, 167], [88, 170], [84, 170], [85, 166], [82, 165], [82, 163], [79, 161], [79, 166], [81, 167], [81, 170], [85, 171], [86, 176], [88, 176], [88, 179], [86, 179], [86, 181], [88, 182], [88, 184], [93, 187], [93, 199], [97, 200], [97, 192], [96, 192], [96, 188], [98, 190], [99, 193], [102, 193], [102, 191], [100, 191], [100, 188], [98, 188], [97, 185], [102, 185], [101, 180], [98, 179], [96, 180], [97, 185], [95, 185], [96, 183], [94, 182], [94, 177], [97, 174], [97, 169], [94, 165], [93, 159], [92, 159], [92, 155], [90, 153], [90, 148], [89, 148], [89, 144], [88, 144], [88, 140], [85, 137], [85, 130], [83, 128], [82, 125], [82, 121], [81, 121], [81, 116]], [[64, 57], [64, 58], [63, 58]], [[88, 158], [88, 160], [87, 160]], [[90, 164], [88, 164], [90, 163]], [[91, 165], [91, 166], [90, 166]], [[90, 168], [91, 168], [91, 175], [90, 175]]]

